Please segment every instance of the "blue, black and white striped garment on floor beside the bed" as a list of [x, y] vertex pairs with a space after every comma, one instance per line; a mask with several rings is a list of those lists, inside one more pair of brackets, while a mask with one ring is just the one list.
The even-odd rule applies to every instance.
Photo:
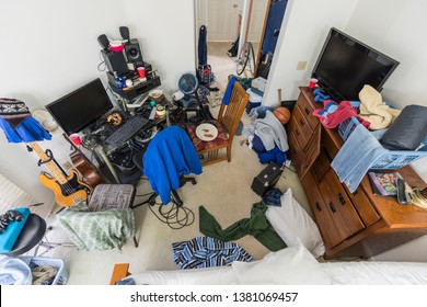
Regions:
[[251, 262], [241, 246], [210, 237], [196, 237], [189, 241], [172, 243], [173, 261], [180, 269], [200, 269], [230, 265], [233, 261]]

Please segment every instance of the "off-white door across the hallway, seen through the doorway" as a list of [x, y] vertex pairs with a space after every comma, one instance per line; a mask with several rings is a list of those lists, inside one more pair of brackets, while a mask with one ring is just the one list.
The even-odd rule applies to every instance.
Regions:
[[208, 42], [234, 42], [239, 36], [239, 0], [207, 1]]

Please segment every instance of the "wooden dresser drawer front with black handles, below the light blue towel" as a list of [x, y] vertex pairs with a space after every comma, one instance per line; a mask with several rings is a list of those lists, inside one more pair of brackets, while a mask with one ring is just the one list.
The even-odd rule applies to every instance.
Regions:
[[319, 185], [323, 200], [343, 238], [348, 238], [365, 228], [333, 169], [330, 169]]

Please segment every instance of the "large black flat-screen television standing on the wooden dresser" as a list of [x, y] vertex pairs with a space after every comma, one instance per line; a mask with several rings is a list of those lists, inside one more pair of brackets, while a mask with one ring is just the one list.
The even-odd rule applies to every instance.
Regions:
[[335, 27], [330, 30], [312, 77], [336, 102], [359, 100], [369, 84], [381, 92], [399, 61], [350, 37]]

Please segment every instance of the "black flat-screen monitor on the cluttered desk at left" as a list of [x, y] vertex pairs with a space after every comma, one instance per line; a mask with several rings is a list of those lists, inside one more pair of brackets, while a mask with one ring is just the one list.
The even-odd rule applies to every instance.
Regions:
[[100, 78], [46, 105], [67, 135], [95, 124], [113, 109]]

